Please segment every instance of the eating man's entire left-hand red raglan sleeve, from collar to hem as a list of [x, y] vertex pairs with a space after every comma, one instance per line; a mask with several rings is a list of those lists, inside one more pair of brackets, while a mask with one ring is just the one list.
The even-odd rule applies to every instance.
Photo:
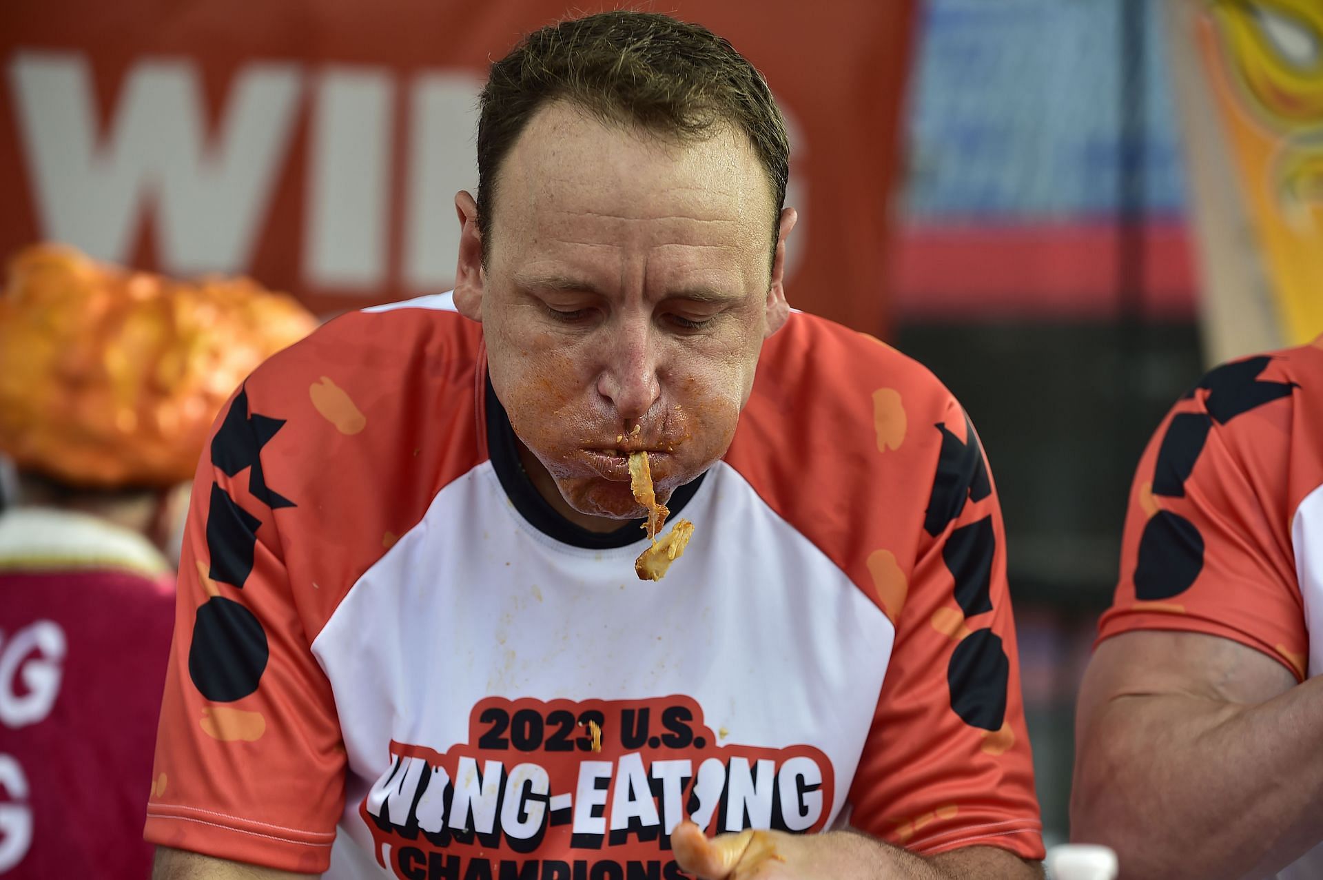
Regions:
[[312, 644], [441, 487], [482, 461], [480, 363], [480, 328], [459, 315], [351, 312], [266, 361], [226, 406], [193, 483], [148, 840], [327, 869], [347, 756]]

